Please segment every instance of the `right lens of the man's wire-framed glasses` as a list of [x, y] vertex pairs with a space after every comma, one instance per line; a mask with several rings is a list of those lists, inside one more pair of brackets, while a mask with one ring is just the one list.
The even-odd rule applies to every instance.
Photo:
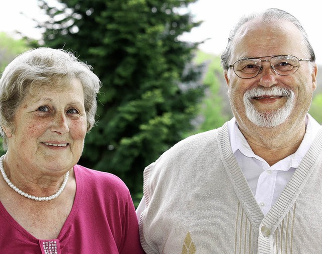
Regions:
[[299, 60], [295, 56], [283, 55], [271, 58], [271, 65], [279, 75], [293, 74], [299, 67]]

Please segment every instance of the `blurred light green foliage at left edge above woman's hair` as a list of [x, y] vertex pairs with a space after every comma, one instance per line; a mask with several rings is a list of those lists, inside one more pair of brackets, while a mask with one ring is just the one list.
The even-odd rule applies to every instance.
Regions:
[[3, 72], [8, 63], [17, 55], [26, 50], [28, 50], [28, 46], [25, 40], [17, 40], [0, 32], [0, 72]]

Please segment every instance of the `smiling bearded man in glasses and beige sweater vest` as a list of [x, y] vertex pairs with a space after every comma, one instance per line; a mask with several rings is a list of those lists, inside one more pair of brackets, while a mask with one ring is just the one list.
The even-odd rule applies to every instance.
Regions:
[[234, 118], [144, 171], [146, 253], [320, 253], [322, 131], [307, 114], [317, 67], [296, 18], [242, 18], [221, 56]]

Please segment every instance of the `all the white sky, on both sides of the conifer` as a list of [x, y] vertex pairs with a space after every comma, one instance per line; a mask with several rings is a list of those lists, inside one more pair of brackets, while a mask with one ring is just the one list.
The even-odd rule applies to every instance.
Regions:
[[[107, 0], [108, 1], [108, 0]], [[301, 3], [301, 2], [299, 2]], [[201, 41], [210, 38], [200, 48], [206, 52], [220, 54], [227, 43], [230, 29], [240, 16], [262, 11], [266, 8], [279, 8], [295, 16], [303, 25], [315, 51], [316, 62], [322, 64], [322, 19], [320, 8], [311, 2], [296, 4], [293, 0], [240, 1], [228, 0], [219, 5], [214, 0], [198, 0], [190, 5], [196, 20], [204, 23], [185, 35], [186, 40]], [[220, 6], [220, 7], [219, 7]], [[24, 13], [21, 14], [21, 13]], [[41, 20], [43, 16], [37, 6], [37, 0], [2, 0], [0, 4], [0, 31], [18, 30], [24, 34], [40, 38], [31, 19]], [[75, 49], [76, 50], [76, 49]]]

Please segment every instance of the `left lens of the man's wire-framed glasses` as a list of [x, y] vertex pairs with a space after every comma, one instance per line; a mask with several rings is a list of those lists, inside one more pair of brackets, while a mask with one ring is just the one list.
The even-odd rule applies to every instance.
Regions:
[[241, 59], [233, 64], [233, 70], [241, 78], [255, 77], [261, 69], [261, 60], [257, 58]]

